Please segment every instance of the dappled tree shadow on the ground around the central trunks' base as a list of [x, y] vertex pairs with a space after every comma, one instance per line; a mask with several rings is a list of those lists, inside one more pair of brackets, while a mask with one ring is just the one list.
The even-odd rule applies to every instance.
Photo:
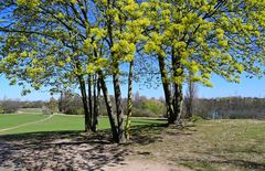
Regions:
[[[131, 128], [131, 142], [159, 141], [163, 125]], [[126, 145], [113, 143], [109, 130], [31, 132], [0, 136], [0, 170], [104, 170], [126, 164], [132, 153]]]

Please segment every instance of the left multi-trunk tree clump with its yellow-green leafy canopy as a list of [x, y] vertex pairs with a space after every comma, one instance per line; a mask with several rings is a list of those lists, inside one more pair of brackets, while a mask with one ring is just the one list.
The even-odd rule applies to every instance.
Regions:
[[[1, 66], [9, 78], [14, 83], [18, 79], [20, 84], [31, 83], [36, 89], [56, 87], [59, 83], [66, 87], [77, 84], [85, 111], [85, 129], [88, 130], [92, 117], [96, 116], [92, 115], [92, 79], [98, 77], [112, 130], [117, 131], [113, 133], [117, 135], [114, 139], [124, 141], [119, 67], [134, 60], [135, 44], [141, 38], [145, 23], [135, 21], [141, 20], [138, 4], [121, 0], [9, 0], [1, 3], [1, 9], [8, 11], [7, 15], [1, 15], [4, 23], [0, 31], [6, 33], [2, 35], [4, 58]], [[117, 127], [105, 83], [108, 75], [115, 87]]]

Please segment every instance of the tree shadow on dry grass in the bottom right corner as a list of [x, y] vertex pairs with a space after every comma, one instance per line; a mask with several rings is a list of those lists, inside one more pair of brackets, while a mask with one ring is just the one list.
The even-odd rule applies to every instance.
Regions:
[[[208, 151], [192, 151], [195, 156], [192, 158], [181, 157], [177, 162], [192, 170], [219, 170], [220, 168], [235, 168], [235, 170], [265, 170], [265, 162], [261, 160], [264, 151], [257, 151], [254, 147], [223, 147], [218, 151], [210, 149]], [[199, 157], [198, 157], [199, 154]], [[252, 156], [250, 158], [248, 156]], [[259, 160], [258, 160], [259, 159]]]

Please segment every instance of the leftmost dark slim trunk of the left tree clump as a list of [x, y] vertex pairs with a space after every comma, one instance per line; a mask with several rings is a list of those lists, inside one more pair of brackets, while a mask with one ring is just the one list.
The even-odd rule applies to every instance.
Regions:
[[80, 82], [83, 108], [84, 108], [84, 113], [85, 113], [85, 131], [88, 131], [91, 129], [91, 127], [89, 127], [91, 118], [89, 118], [89, 110], [88, 110], [88, 106], [87, 106], [85, 81], [84, 81], [83, 76], [78, 76], [78, 82]]

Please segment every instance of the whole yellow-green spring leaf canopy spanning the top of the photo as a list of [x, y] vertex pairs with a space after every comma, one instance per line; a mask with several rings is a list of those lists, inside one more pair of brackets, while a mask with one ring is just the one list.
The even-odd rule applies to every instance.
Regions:
[[[0, 28], [9, 31], [1, 34], [0, 66], [10, 78], [25, 79], [38, 88], [50, 84], [49, 76], [65, 84], [98, 71], [120, 73], [117, 64], [134, 61], [137, 50], [145, 52], [142, 57], [166, 58], [165, 72], [179, 84], [188, 73], [206, 86], [212, 86], [212, 73], [230, 82], [240, 82], [244, 72], [263, 74], [264, 0], [17, 3], [17, 12], [11, 13], [18, 18], [15, 24]], [[1, 3], [1, 8], [9, 6]]]

